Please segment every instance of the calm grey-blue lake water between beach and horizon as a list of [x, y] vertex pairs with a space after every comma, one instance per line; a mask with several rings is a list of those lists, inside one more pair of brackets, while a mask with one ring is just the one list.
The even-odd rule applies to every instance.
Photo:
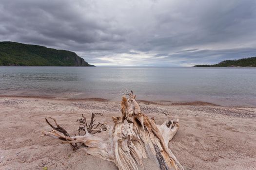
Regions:
[[120, 100], [125, 89], [149, 101], [256, 106], [256, 68], [0, 67], [0, 95]]

